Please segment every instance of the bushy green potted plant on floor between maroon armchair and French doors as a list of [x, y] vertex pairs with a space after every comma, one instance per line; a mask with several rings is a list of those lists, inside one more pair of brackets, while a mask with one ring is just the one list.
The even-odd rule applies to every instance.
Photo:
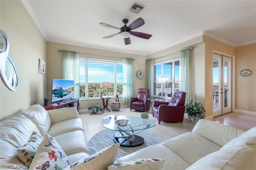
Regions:
[[204, 119], [205, 113], [207, 113], [204, 110], [203, 104], [198, 102], [189, 101], [185, 105], [185, 113], [188, 114], [188, 118], [191, 122], [196, 123], [199, 119]]

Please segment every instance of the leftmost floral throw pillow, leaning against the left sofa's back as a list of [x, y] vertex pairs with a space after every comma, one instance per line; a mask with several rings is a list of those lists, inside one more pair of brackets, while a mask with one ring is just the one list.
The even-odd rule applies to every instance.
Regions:
[[28, 165], [28, 167], [30, 166], [43, 138], [44, 137], [40, 133], [33, 131], [29, 141], [24, 146], [17, 149], [18, 158], [21, 162]]

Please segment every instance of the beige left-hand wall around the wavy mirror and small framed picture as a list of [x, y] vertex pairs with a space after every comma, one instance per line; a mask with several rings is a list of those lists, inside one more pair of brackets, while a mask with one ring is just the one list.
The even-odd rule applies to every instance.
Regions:
[[1, 0], [0, 21], [20, 79], [17, 91], [10, 91], [0, 80], [0, 120], [3, 120], [28, 108], [34, 99], [44, 102], [46, 75], [39, 74], [39, 59], [46, 61], [46, 41], [20, 1]]

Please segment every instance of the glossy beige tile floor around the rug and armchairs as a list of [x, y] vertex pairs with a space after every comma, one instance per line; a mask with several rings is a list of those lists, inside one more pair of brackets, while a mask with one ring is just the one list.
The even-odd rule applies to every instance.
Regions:
[[[87, 141], [89, 141], [92, 136], [94, 136], [99, 131], [105, 129], [101, 125], [101, 120], [103, 117], [106, 117], [108, 115], [130, 115], [140, 117], [140, 113], [141, 112], [139, 111], [130, 111], [129, 107], [121, 107], [120, 111], [106, 111], [104, 113], [98, 113], [96, 115], [90, 115], [90, 112], [86, 112], [79, 113], [79, 115], [84, 123], [86, 139]], [[148, 111], [148, 113], [150, 115], [149, 119], [157, 121], [155, 117], [152, 117], [152, 110]], [[238, 128], [241, 130], [248, 130], [252, 127], [256, 127], [256, 116], [235, 112], [215, 117], [214, 119], [212, 119], [212, 121], [216, 121], [218, 123], [222, 123], [224, 125], [228, 125], [230, 127]], [[166, 140], [170, 137], [177, 136], [178, 134], [191, 131], [194, 125], [195, 123], [190, 122], [186, 117], [184, 117], [183, 123], [169, 123], [162, 121], [161, 125], [156, 125], [155, 127], [150, 128], [150, 130], [153, 130], [159, 136], [164, 138], [164, 140]]]

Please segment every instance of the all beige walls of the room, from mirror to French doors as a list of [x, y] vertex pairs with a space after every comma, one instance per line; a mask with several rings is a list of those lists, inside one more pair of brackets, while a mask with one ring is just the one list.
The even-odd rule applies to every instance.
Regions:
[[[197, 37], [196, 40], [188, 40], [147, 56], [139, 56], [46, 42], [20, 1], [1, 0], [0, 21], [0, 29], [4, 30], [9, 38], [9, 53], [16, 64], [20, 78], [17, 91], [10, 91], [5, 86], [2, 79], [0, 81], [0, 120], [26, 109], [30, 106], [32, 100], [38, 100], [38, 103], [43, 104], [44, 97], [51, 98], [52, 79], [61, 78], [61, 53], [58, 52], [58, 49], [79, 51], [80, 53], [90, 53], [94, 55], [134, 58], [134, 95], [136, 95], [139, 88], [147, 87], [146, 59], [154, 58], [155, 62], [158, 62], [178, 57], [177, 55], [170, 54], [190, 46], [194, 47], [191, 51], [192, 70], [194, 72], [194, 91], [192, 91], [191, 98], [205, 105], [205, 109], [208, 112], [207, 116], [212, 116], [212, 96], [210, 96], [210, 92], [212, 92], [213, 50], [236, 56], [234, 77], [236, 95], [234, 107], [241, 113], [255, 115], [256, 89], [254, 85], [256, 80], [256, 43], [235, 48], [213, 40], [212, 38], [200, 36]], [[46, 61], [45, 75], [38, 73], [39, 59]], [[99, 59], [110, 58], [99, 57]], [[242, 69], [250, 69], [252, 74], [249, 77], [242, 77], [240, 76]], [[138, 70], [144, 71], [145, 76], [143, 79], [136, 78], [136, 72]], [[202, 96], [197, 96], [197, 92], [201, 92]], [[87, 109], [88, 106], [95, 101], [101, 103], [100, 100], [80, 101], [80, 109]], [[245, 111], [245, 106], [248, 107], [248, 111]]]

